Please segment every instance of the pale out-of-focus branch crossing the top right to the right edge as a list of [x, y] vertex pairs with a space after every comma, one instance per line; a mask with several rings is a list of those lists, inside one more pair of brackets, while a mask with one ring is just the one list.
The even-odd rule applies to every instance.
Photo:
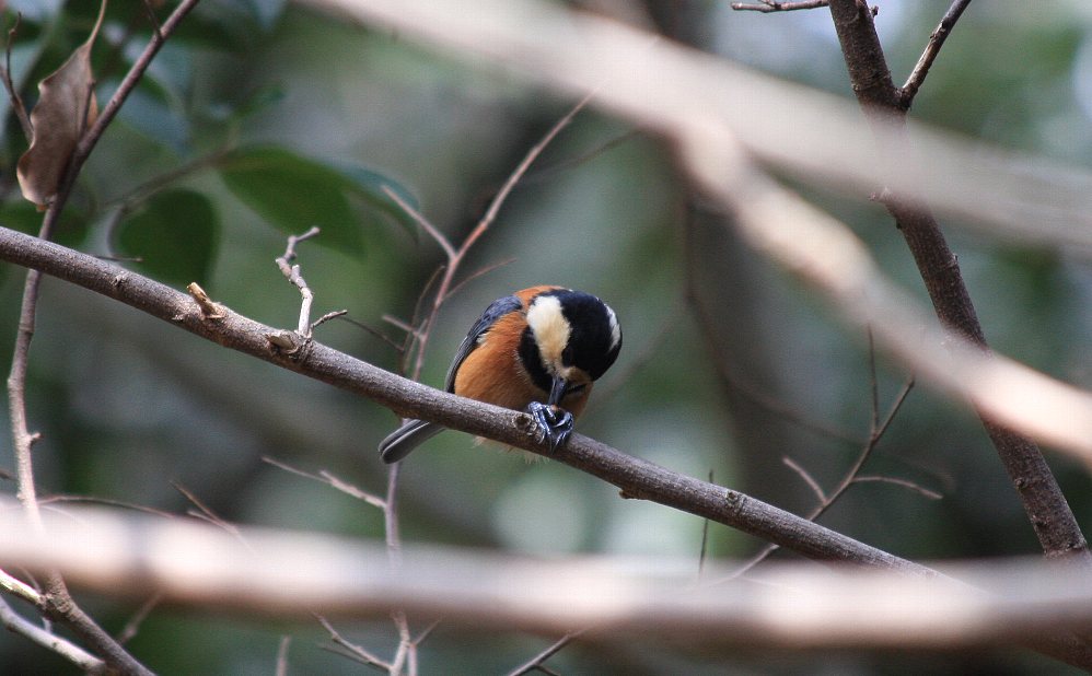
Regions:
[[[753, 159], [809, 185], [860, 196], [875, 190], [876, 176], [883, 176], [893, 190], [961, 217], [953, 225], [990, 241], [1092, 256], [1092, 172], [1080, 166], [913, 123], [917, 152], [892, 163], [860, 132], [855, 103], [545, 2], [297, 1], [502, 61], [574, 96], [596, 91], [597, 106], [651, 135], [683, 120], [711, 125], [734, 132]], [[800, 124], [800, 110], [809, 110], [806, 125]]]

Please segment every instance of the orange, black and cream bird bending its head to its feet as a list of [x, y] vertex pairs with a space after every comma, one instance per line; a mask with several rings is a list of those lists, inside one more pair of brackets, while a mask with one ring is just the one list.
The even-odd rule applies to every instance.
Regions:
[[[445, 388], [526, 410], [539, 441], [549, 440], [555, 451], [620, 349], [618, 318], [606, 303], [572, 289], [532, 287], [486, 308], [458, 346]], [[441, 431], [433, 422], [409, 420], [380, 443], [380, 457], [400, 461]]]

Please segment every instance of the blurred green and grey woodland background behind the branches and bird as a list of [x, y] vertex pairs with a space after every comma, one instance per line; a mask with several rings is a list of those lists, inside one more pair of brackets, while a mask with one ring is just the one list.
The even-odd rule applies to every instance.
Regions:
[[[86, 39], [94, 4], [9, 0], [5, 28], [22, 14], [11, 39], [12, 77], [28, 104], [37, 81]], [[825, 9], [759, 14], [701, 0], [574, 4], [852, 96]], [[875, 4], [880, 36], [902, 83], [949, 3]], [[161, 19], [169, 9], [160, 10]], [[111, 3], [93, 53], [101, 102], [148, 33], [142, 3]], [[207, 0], [103, 138], [56, 238], [95, 255], [140, 257], [125, 265], [179, 289], [198, 280], [231, 308], [294, 328], [299, 293], [274, 259], [288, 234], [318, 224], [323, 234], [298, 249], [315, 314], [347, 310], [373, 330], [335, 320], [317, 330], [317, 339], [399, 370], [398, 350], [375, 331], [403, 342], [405, 334], [388, 318], [414, 319], [443, 254], [380, 186], [395, 186], [460, 243], [522, 156], [573, 104], [503, 68], [446, 58], [397, 34], [287, 2]], [[754, 115], [760, 118], [763, 110]], [[21, 198], [13, 171], [26, 141], [10, 106], [4, 116], [0, 223], [36, 232], [40, 214]], [[972, 4], [911, 116], [985, 143], [1088, 165], [1092, 11], [1076, 1], [1046, 9], [1017, 0]], [[800, 125], [808, 125], [806, 110]], [[928, 302], [881, 207], [867, 195], [795, 187], [850, 224], [885, 272]], [[669, 148], [593, 108], [581, 112], [464, 261], [456, 282], [466, 284], [440, 312], [422, 382], [442, 386], [455, 346], [493, 299], [538, 283], [592, 292], [617, 311], [625, 348], [596, 385], [579, 431], [806, 513], [816, 497], [785, 458], [829, 490], [868, 440], [873, 386], [875, 415], [883, 418], [911, 374], [883, 354], [873, 357], [867, 335], [845, 329], [815, 293], [735, 241], [722, 219], [695, 198]], [[1088, 261], [946, 232], [992, 346], [1092, 386]], [[474, 277], [480, 270], [487, 271]], [[23, 279], [24, 270], [0, 266], [5, 356]], [[182, 487], [229, 521], [383, 536], [377, 510], [263, 457], [312, 473], [326, 469], [382, 493], [386, 468], [375, 444], [397, 424], [393, 413], [53, 279], [43, 284], [27, 406], [32, 429], [44, 435], [35, 446], [43, 494], [181, 514], [193, 506]], [[7, 424], [4, 417], [0, 468], [10, 471]], [[1057, 455], [1048, 459], [1082, 525], [1092, 524], [1085, 468]], [[856, 485], [822, 523], [916, 560], [1038, 551], [976, 418], [926, 386], [910, 392], [863, 474], [909, 486]], [[0, 486], [15, 491], [10, 479]], [[404, 464], [399, 496], [406, 541], [543, 556], [688, 556], [695, 569], [702, 548], [698, 518], [619, 500], [612, 487], [561, 464], [528, 464], [455, 432]], [[712, 526], [707, 556], [746, 558], [762, 545]], [[78, 598], [111, 630], [137, 609]], [[423, 622], [415, 627], [421, 630]], [[390, 621], [339, 630], [380, 654], [397, 645]], [[324, 651], [327, 637], [314, 622], [193, 608], [155, 608], [130, 646], [162, 673], [269, 674], [282, 634], [293, 639], [291, 673], [369, 671]], [[506, 673], [557, 638], [441, 623], [420, 649], [421, 672]], [[0, 636], [0, 664], [7, 673], [70, 671], [7, 633]], [[624, 641], [573, 644], [549, 665], [562, 674], [1064, 668], [1007, 650], [741, 654]]]

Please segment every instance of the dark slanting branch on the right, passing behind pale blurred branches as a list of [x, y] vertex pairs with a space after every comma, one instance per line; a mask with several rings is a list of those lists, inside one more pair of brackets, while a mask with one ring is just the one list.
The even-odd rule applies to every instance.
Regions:
[[[832, 0], [830, 14], [857, 101], [873, 128], [880, 129], [878, 136], [887, 140], [884, 148], [887, 160], [896, 163], [908, 154], [903, 136], [906, 113], [903, 93], [892, 81], [872, 12], [861, 0]], [[880, 199], [906, 240], [937, 316], [988, 353], [989, 346], [963, 282], [959, 259], [929, 207], [887, 190]], [[978, 413], [1046, 556], [1067, 557], [1092, 570], [1092, 555], [1084, 535], [1038, 446], [984, 411]]]

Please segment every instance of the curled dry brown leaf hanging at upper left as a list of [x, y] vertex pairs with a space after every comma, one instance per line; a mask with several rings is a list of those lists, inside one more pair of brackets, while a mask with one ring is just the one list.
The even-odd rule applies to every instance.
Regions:
[[38, 103], [31, 112], [34, 138], [19, 159], [19, 187], [23, 197], [45, 209], [57, 195], [65, 168], [83, 131], [95, 123], [94, 75], [91, 72], [91, 47], [98, 36], [106, 0], [98, 10], [98, 21], [88, 42], [80, 45], [65, 65], [38, 83]]

